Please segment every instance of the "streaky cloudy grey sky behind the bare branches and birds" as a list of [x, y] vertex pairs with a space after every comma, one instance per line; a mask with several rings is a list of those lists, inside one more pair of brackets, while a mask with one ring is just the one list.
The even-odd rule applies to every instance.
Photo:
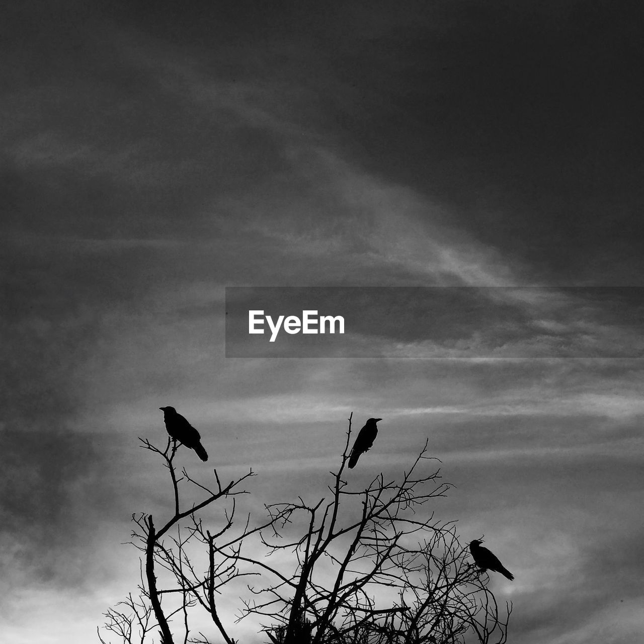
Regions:
[[[1, 12], [5, 641], [97, 641], [135, 590], [166, 405], [256, 515], [323, 495], [352, 412], [383, 419], [357, 486], [429, 439], [509, 641], [641, 634], [638, 3]], [[226, 287], [358, 314], [326, 357], [227, 357]]]

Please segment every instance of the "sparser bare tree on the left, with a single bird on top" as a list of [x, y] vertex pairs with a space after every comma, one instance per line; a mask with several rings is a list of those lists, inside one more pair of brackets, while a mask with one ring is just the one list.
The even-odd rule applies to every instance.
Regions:
[[[254, 574], [238, 569], [237, 558], [242, 543], [253, 533], [265, 529], [272, 521], [269, 519], [269, 522], [251, 529], [247, 517], [242, 530], [230, 536], [236, 508], [235, 497], [247, 493], [240, 489], [240, 485], [247, 478], [254, 477], [254, 473], [251, 470], [223, 486], [214, 469], [214, 486], [207, 487], [191, 478], [185, 468], [177, 475], [173, 463], [177, 450], [176, 440], [168, 439], [164, 451], [149, 440], [139, 440], [143, 448], [162, 457], [169, 471], [174, 511], [160, 527], [156, 527], [152, 515], [132, 515], [137, 527], [132, 533], [131, 544], [143, 553], [139, 596], [135, 599], [129, 594], [128, 599], [120, 602], [114, 609], [109, 609], [104, 614], [106, 623], [103, 629], [116, 634], [120, 641], [128, 644], [149, 641], [156, 629], [161, 644], [178, 644], [179, 641], [185, 644], [191, 633], [191, 609], [200, 606], [209, 613], [223, 641], [235, 644], [228, 633], [229, 627], [224, 624], [218, 610], [218, 597], [225, 585], [247, 574]], [[202, 498], [184, 508], [181, 491], [185, 485], [200, 492]], [[232, 498], [232, 502], [224, 510], [223, 526], [211, 533], [204, 528], [199, 512], [226, 498]], [[202, 556], [194, 554], [196, 544], [202, 546]], [[164, 575], [167, 587], [159, 587], [159, 574]], [[173, 634], [171, 630], [171, 622], [178, 621], [178, 616], [181, 618], [181, 625], [178, 627], [180, 636]], [[207, 641], [203, 634], [200, 637], [201, 639], [193, 638], [190, 641]], [[100, 630], [99, 639], [106, 644]]]

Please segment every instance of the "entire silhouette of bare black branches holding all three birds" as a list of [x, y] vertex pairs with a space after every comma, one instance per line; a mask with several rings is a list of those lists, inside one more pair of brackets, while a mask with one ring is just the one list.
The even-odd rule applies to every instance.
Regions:
[[[236, 621], [263, 620], [273, 644], [504, 644], [511, 605], [500, 610], [455, 522], [437, 520], [429, 507], [450, 486], [427, 442], [399, 480], [381, 473], [361, 488], [345, 469], [351, 423], [352, 416], [325, 498], [272, 504], [261, 525], [251, 527], [247, 518], [241, 529], [233, 527], [235, 500], [252, 470], [227, 486], [214, 470], [211, 489], [185, 469], [177, 476], [176, 443], [161, 451], [142, 440], [169, 471], [174, 508], [158, 528], [151, 515], [133, 515], [132, 543], [142, 552], [139, 596], [109, 609], [104, 631], [128, 644], [149, 642], [156, 632], [162, 644], [207, 644], [213, 640], [190, 626], [202, 609], [219, 638], [235, 644], [232, 617], [218, 605], [226, 593], [240, 601]], [[201, 497], [184, 507], [186, 487]], [[227, 498], [225, 520], [211, 531], [198, 513]], [[245, 591], [232, 585], [244, 580]]]

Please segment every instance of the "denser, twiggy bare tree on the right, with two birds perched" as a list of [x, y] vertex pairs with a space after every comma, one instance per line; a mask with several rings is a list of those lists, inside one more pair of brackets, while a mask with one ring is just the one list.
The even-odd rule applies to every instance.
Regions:
[[291, 568], [240, 557], [272, 580], [249, 587], [243, 614], [278, 620], [266, 632], [279, 644], [504, 644], [511, 607], [501, 616], [455, 524], [426, 509], [450, 488], [427, 443], [400, 480], [379, 474], [357, 490], [343, 478], [348, 420], [329, 500], [269, 506], [275, 532], [263, 543], [280, 560], [292, 553]]

